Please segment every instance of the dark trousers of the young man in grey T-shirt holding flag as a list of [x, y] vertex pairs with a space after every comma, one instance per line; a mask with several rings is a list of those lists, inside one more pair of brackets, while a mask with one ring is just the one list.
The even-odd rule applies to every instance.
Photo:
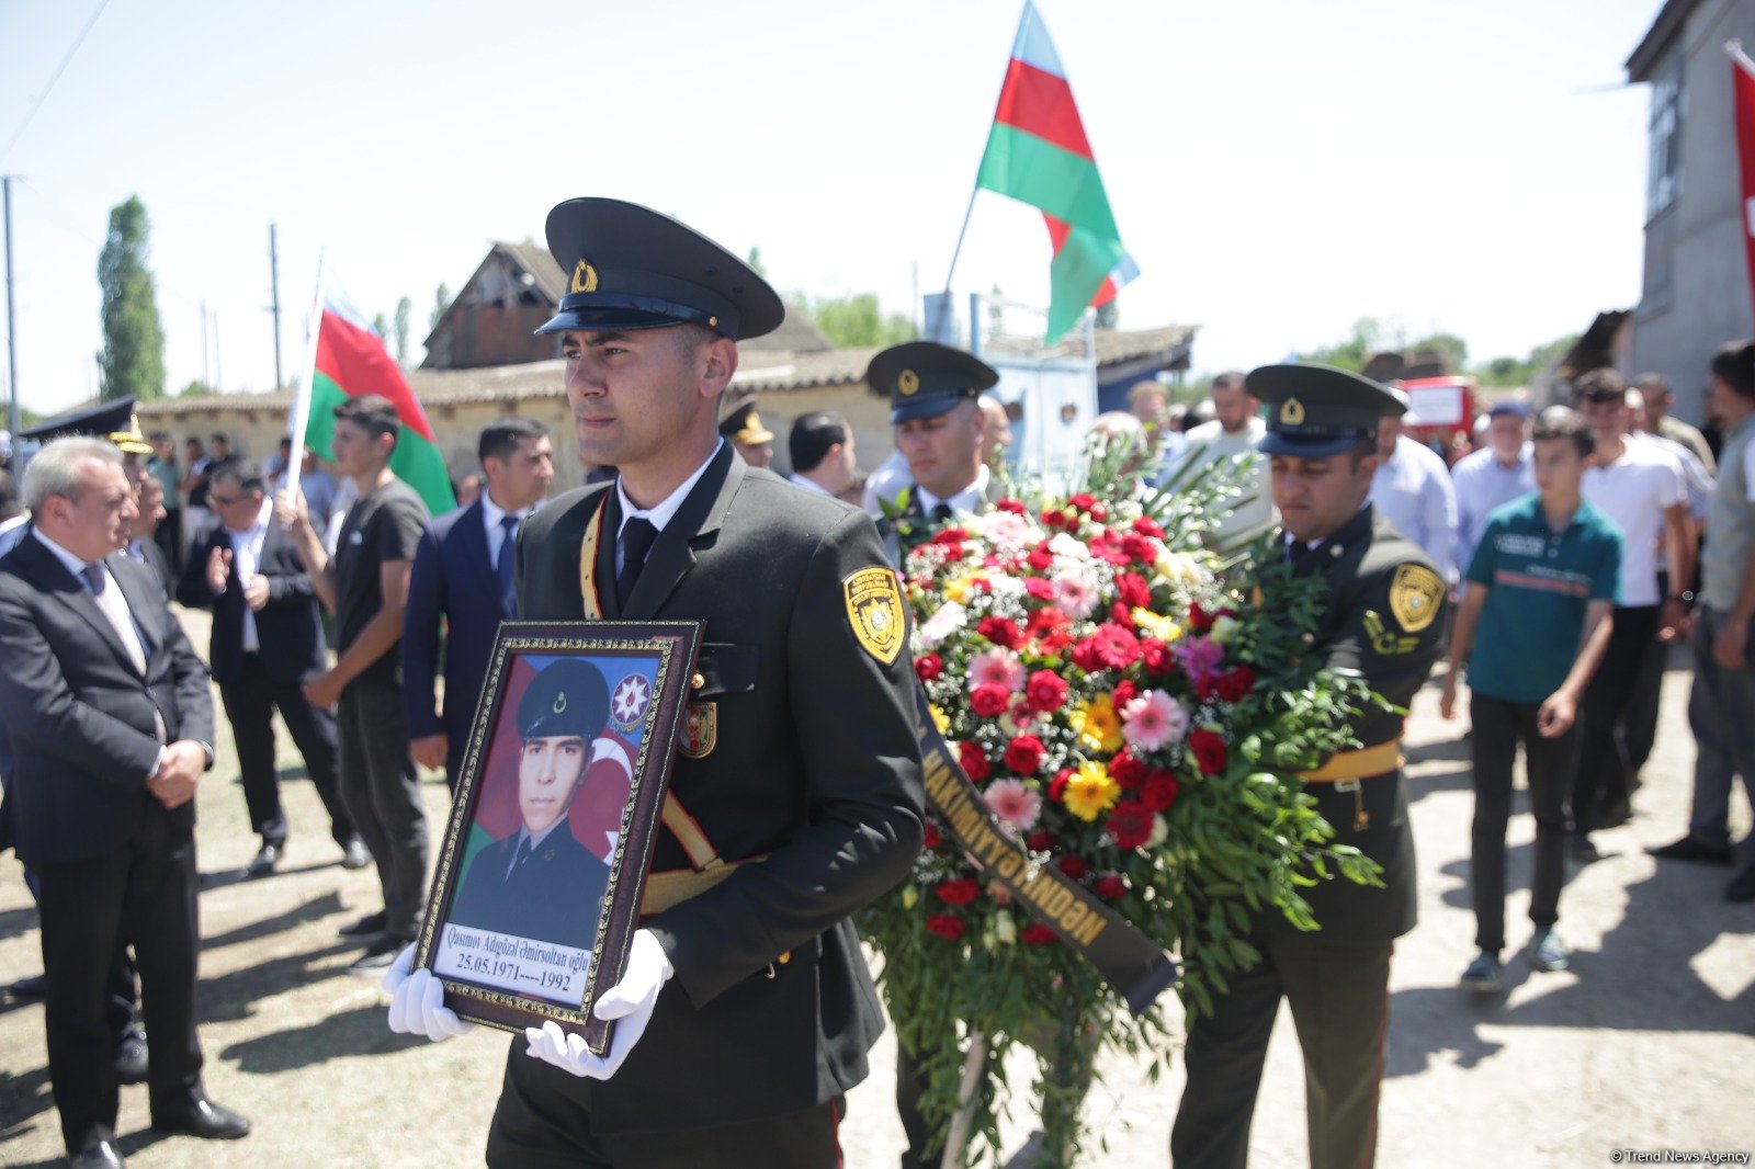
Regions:
[[384, 892], [384, 932], [414, 941], [426, 897], [426, 804], [409, 758], [397, 686], [355, 679], [340, 692], [340, 797]]

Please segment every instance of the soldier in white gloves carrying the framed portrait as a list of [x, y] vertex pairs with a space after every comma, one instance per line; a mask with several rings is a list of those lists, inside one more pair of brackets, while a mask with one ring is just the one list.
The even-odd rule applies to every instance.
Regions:
[[[544, 328], [563, 333], [579, 453], [620, 477], [525, 525], [518, 611], [704, 623], [670, 792], [732, 872], [642, 920], [595, 1008], [620, 1020], [607, 1055], [555, 1025], [512, 1041], [488, 1164], [837, 1164], [842, 1095], [883, 1029], [848, 916], [923, 832], [900, 590], [869, 516], [718, 435], [737, 339], [784, 316], [760, 276], [618, 200], [562, 204], [548, 239], [572, 274]], [[718, 876], [669, 832], [651, 865]], [[455, 1034], [411, 1011], [428, 971], [386, 983], [405, 1030]]]

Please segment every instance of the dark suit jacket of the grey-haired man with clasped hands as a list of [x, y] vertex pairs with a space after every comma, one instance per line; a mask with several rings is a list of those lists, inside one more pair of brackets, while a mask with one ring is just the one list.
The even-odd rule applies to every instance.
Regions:
[[[12, 749], [7, 802], [26, 865], [84, 860], [139, 830], [158, 767], [153, 713], [167, 739], [212, 742], [207, 667], [144, 563], [104, 565], [142, 634], [142, 676], [97, 599], [33, 535], [0, 558], [0, 723]], [[168, 813], [195, 823], [195, 800]]]

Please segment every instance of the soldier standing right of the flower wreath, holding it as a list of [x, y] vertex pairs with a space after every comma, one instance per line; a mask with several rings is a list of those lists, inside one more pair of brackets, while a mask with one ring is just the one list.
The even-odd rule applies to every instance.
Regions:
[[[1271, 407], [1262, 453], [1286, 556], [1329, 584], [1318, 648], [1329, 669], [1357, 671], [1406, 707], [1443, 648], [1444, 583], [1436, 567], [1371, 507], [1379, 414], [1400, 404], [1357, 374], [1323, 365], [1267, 365], [1248, 377]], [[1279, 1000], [1292, 1004], [1304, 1050], [1313, 1169], [1371, 1165], [1378, 1083], [1388, 1037], [1390, 953], [1415, 925], [1415, 841], [1402, 790], [1399, 714], [1369, 709], [1364, 744], [1306, 772], [1336, 828], [1383, 865], [1383, 888], [1330, 879], [1306, 892], [1322, 927], [1272, 916], [1251, 941], [1262, 962], [1230, 979], [1214, 1013], [1188, 1025], [1188, 1087], [1171, 1132], [1178, 1169], [1248, 1162], [1250, 1120]]]

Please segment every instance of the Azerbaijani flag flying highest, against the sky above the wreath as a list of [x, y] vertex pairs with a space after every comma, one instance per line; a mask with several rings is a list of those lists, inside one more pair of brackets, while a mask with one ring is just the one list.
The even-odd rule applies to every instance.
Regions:
[[1039, 207], [1048, 219], [1055, 247], [1048, 344], [1060, 341], [1086, 307], [1114, 300], [1116, 290], [1139, 276], [1121, 247], [1067, 72], [1030, 0], [1018, 21], [976, 186]]

